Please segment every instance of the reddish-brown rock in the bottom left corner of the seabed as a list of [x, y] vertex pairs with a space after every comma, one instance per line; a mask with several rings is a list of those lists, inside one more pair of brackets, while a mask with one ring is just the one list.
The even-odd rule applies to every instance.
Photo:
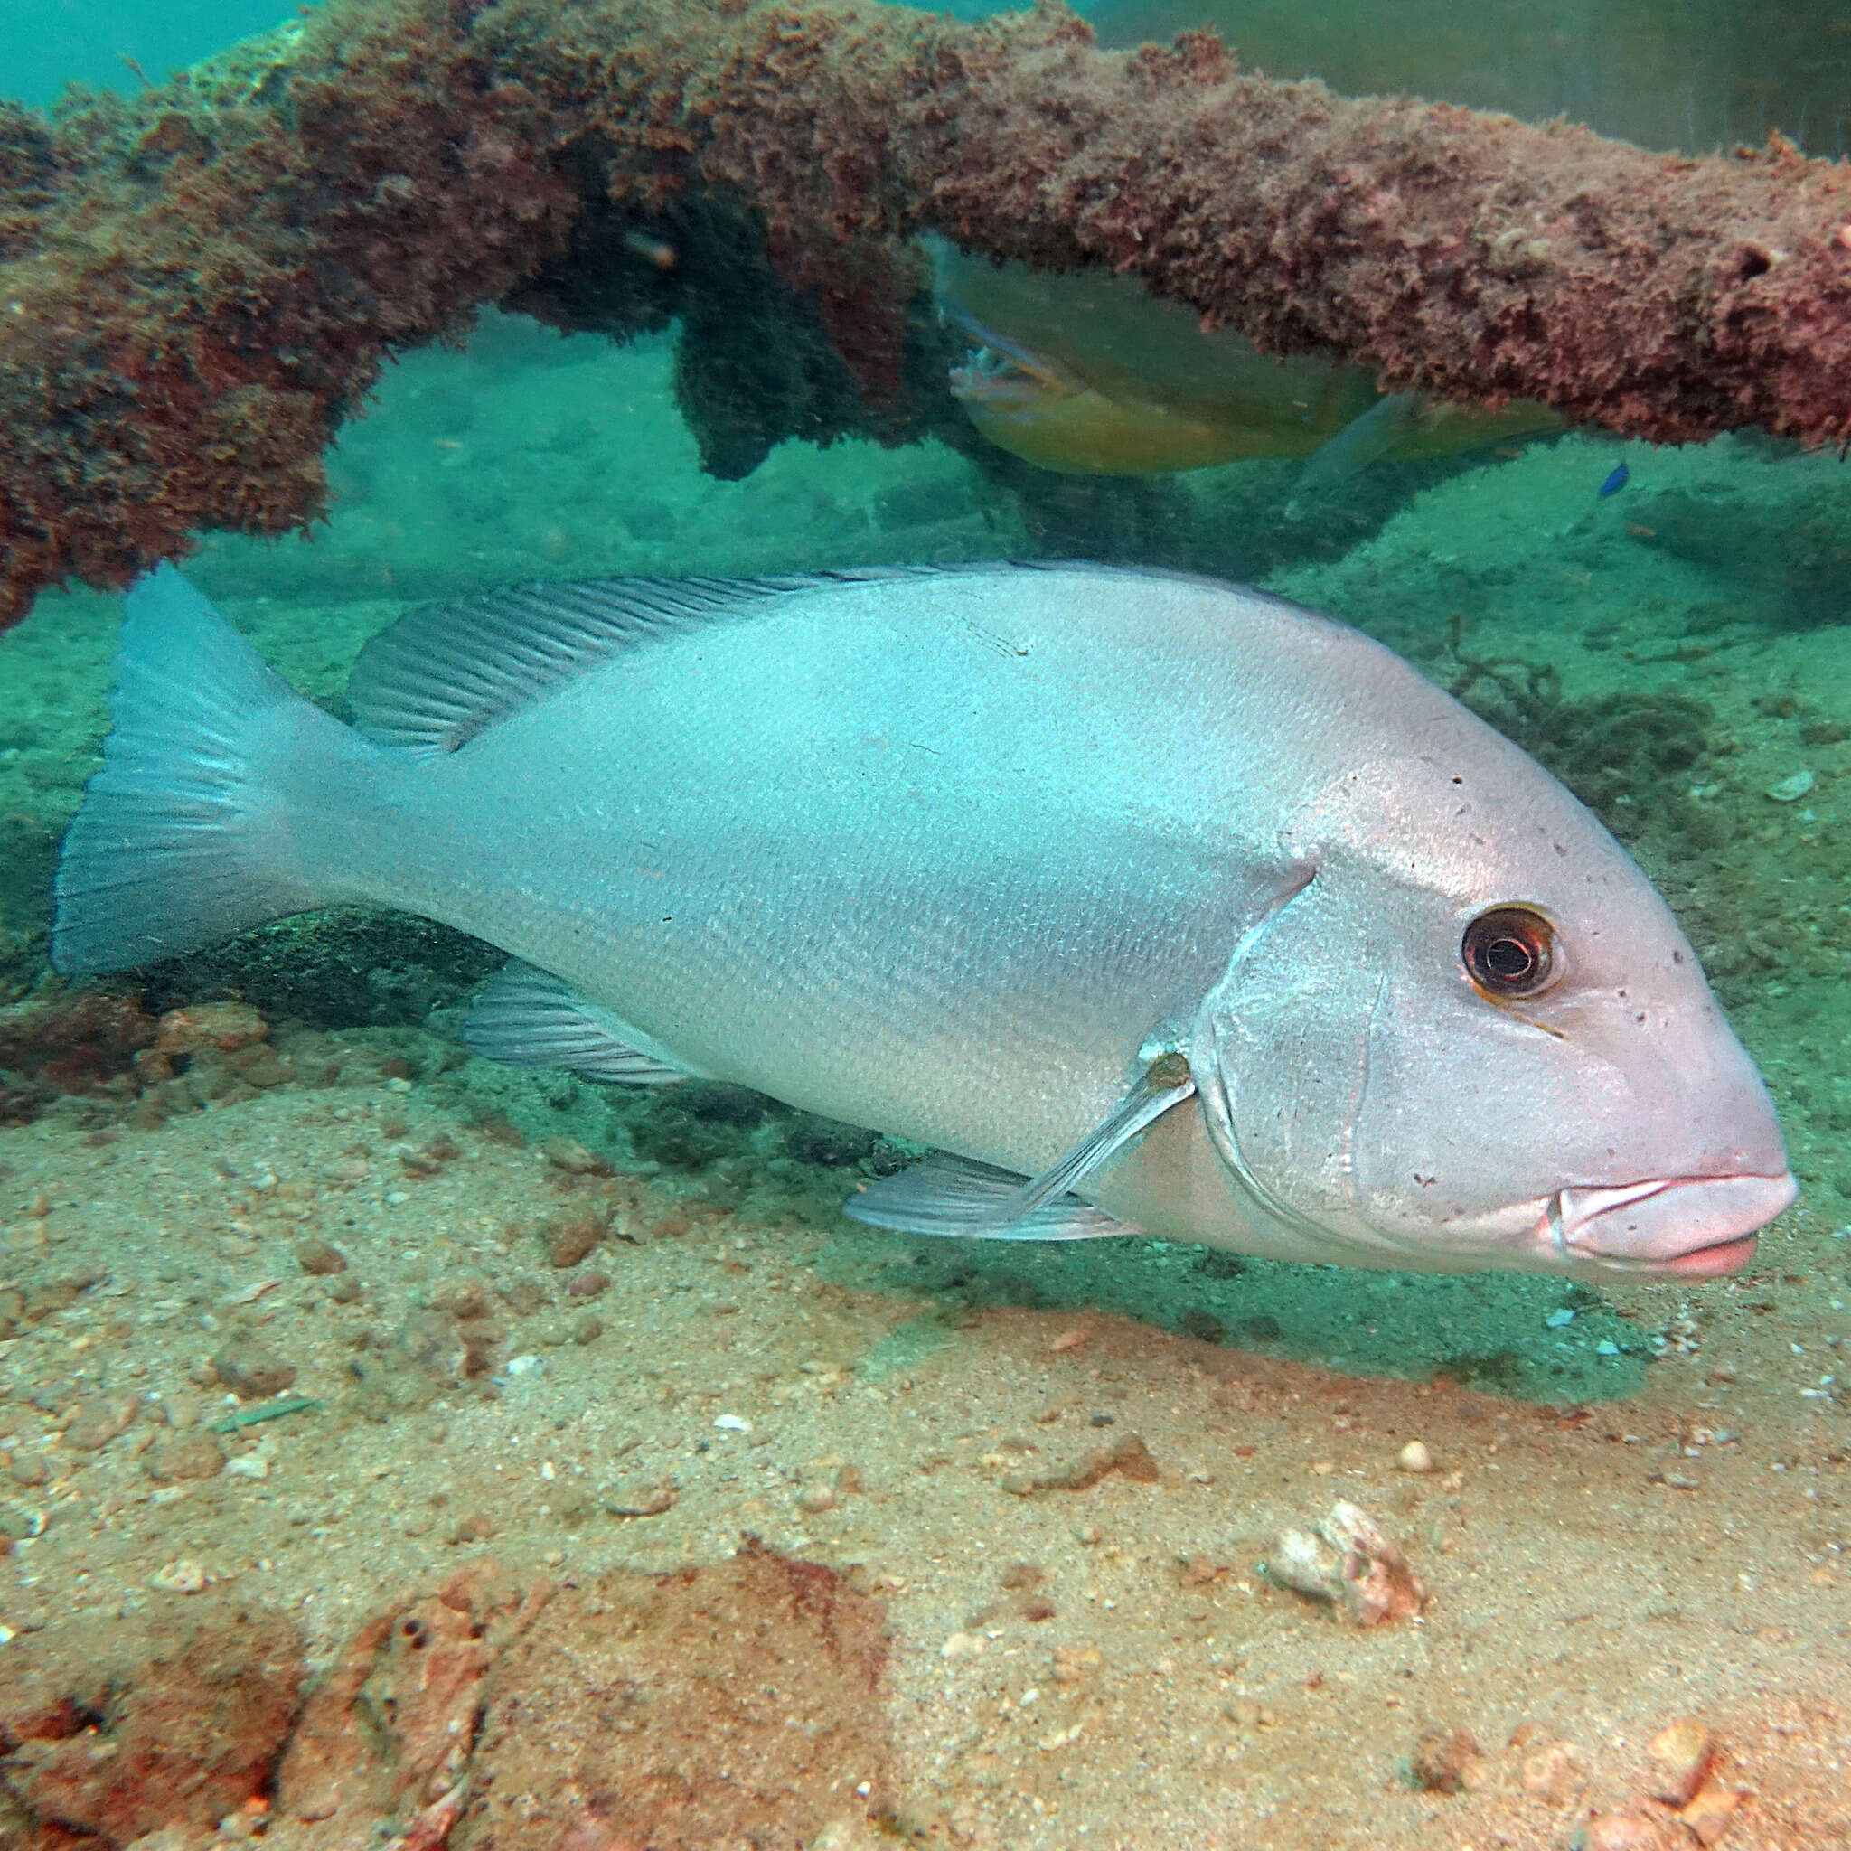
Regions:
[[46, 1844], [211, 1831], [265, 1792], [302, 1677], [287, 1620], [217, 1594], [15, 1638], [0, 1657], [6, 1792]]

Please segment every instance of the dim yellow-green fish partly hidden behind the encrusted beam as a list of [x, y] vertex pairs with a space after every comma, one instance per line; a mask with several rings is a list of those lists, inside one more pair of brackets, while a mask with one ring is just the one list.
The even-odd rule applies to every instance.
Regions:
[[1229, 328], [1105, 270], [1051, 272], [929, 239], [940, 311], [974, 344], [950, 374], [977, 431], [1037, 468], [1159, 476], [1253, 459], [1311, 459], [1323, 492], [1370, 463], [1560, 431], [1547, 405], [1497, 411], [1381, 392], [1336, 354], [1272, 359]]

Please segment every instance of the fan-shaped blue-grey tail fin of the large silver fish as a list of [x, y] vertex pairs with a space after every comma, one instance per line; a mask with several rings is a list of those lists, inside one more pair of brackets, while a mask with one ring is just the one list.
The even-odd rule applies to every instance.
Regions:
[[172, 566], [128, 594], [111, 714], [57, 863], [57, 970], [126, 970], [322, 903], [280, 774], [350, 735]]

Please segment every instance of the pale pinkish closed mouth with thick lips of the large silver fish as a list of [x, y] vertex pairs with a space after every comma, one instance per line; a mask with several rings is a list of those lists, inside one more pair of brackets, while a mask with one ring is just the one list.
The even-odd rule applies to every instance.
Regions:
[[1792, 1172], [1660, 1175], [1559, 1188], [1533, 1229], [1557, 1264], [1633, 1277], [1716, 1279], [1755, 1257], [1755, 1236], [1799, 1194]]

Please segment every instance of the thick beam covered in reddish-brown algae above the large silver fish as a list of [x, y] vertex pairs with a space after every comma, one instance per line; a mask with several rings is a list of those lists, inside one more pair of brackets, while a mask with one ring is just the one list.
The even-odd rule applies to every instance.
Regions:
[[1390, 387], [1851, 439], [1851, 170], [1784, 144], [1344, 100], [1201, 35], [1101, 54], [1057, 7], [331, 0], [131, 102], [0, 106], [0, 622], [313, 520], [383, 359], [483, 302], [631, 331], [757, 265], [859, 385], [816, 433], [903, 435], [920, 230]]

